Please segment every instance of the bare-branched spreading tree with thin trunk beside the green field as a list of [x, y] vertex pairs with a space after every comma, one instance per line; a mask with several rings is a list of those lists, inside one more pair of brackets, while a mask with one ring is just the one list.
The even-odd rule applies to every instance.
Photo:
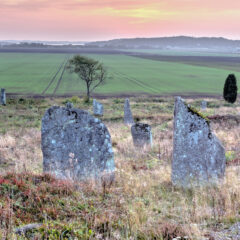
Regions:
[[69, 60], [68, 69], [76, 73], [85, 82], [87, 89], [87, 101], [96, 87], [104, 84], [107, 72], [103, 64], [94, 59], [76, 55]]

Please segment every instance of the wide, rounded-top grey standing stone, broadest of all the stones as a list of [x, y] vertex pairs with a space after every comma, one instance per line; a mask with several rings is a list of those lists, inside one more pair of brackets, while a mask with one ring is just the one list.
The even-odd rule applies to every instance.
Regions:
[[101, 180], [114, 177], [111, 136], [88, 112], [49, 108], [42, 119], [43, 169], [58, 178]]

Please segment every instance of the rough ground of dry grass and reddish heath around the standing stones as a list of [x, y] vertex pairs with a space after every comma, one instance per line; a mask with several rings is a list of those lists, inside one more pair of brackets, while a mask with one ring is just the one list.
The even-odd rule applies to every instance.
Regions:
[[[92, 104], [78, 97], [12, 98], [0, 106], [0, 239], [24, 239], [15, 229], [30, 223], [42, 224], [35, 239], [239, 239], [228, 238], [234, 234], [228, 229], [240, 222], [239, 101], [205, 99], [207, 116], [232, 116], [211, 121], [226, 149], [224, 183], [184, 190], [171, 184], [172, 97], [130, 98], [135, 120], [152, 126], [152, 149], [133, 146], [123, 123], [124, 99], [99, 100], [115, 154], [111, 186], [43, 174], [41, 118], [68, 100], [92, 113]], [[201, 100], [186, 101], [200, 110]]]

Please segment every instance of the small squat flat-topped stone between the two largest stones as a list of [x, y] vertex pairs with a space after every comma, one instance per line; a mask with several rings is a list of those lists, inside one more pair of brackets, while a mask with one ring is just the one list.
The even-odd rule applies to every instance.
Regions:
[[152, 146], [151, 126], [144, 123], [136, 123], [131, 127], [133, 143], [135, 147]]

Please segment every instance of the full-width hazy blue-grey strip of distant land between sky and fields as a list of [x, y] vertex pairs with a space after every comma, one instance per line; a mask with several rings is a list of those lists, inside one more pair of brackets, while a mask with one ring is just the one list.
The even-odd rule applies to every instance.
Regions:
[[160, 49], [160, 50], [197, 50], [216, 52], [240, 52], [240, 40], [210, 37], [160, 37], [160, 38], [127, 38], [108, 41], [0, 41], [1, 48], [105, 48], [105, 49]]

